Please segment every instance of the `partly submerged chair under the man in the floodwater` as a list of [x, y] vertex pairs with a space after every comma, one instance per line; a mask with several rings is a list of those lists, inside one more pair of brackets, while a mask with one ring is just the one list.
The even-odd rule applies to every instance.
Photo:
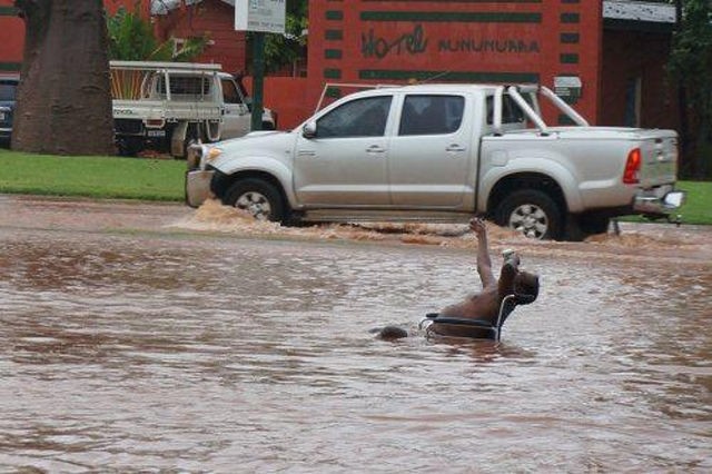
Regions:
[[500, 305], [500, 314], [497, 315], [497, 320], [494, 325], [488, 320], [457, 318], [441, 316], [439, 313], [428, 313], [427, 315], [425, 315], [425, 319], [421, 322], [421, 327], [423, 327], [424, 323], [427, 323], [427, 326], [425, 328], [425, 334], [427, 337], [451, 337], [438, 334], [436, 328], [438, 326], [444, 328], [447, 328], [448, 326], [455, 326], [459, 335], [452, 337], [469, 337], [475, 339], [500, 340], [504, 322], [514, 310], [516, 305], [521, 303], [521, 299], [522, 298], [518, 295], [505, 296], [502, 300], [502, 305]]

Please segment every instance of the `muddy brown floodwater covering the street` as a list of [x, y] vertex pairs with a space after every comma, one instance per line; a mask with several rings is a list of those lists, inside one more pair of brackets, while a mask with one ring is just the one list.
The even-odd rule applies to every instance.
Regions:
[[540, 298], [453, 344], [463, 226], [230, 213], [0, 196], [0, 472], [712, 471], [712, 229], [492, 228]]

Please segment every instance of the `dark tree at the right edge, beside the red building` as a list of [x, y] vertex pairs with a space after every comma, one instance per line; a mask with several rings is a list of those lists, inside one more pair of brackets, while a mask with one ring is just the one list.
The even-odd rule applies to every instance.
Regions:
[[[683, 149], [691, 159], [685, 160], [683, 175], [703, 179], [712, 171], [712, 10], [708, 0], [678, 0], [679, 28], [668, 71], [681, 88], [684, 116]], [[689, 135], [693, 142], [688, 146]]]

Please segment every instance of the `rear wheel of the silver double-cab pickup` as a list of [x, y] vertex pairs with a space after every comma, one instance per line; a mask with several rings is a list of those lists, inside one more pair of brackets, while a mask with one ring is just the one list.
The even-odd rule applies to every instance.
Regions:
[[535, 239], [557, 239], [562, 230], [562, 213], [556, 203], [537, 189], [512, 192], [497, 206], [495, 223]]

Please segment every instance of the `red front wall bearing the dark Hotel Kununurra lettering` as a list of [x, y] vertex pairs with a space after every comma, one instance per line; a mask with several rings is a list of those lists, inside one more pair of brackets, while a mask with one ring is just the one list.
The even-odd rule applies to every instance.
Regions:
[[[601, 2], [312, 0], [309, 101], [326, 82], [583, 82], [577, 109], [599, 115]], [[548, 121], [558, 117], [548, 111]]]

